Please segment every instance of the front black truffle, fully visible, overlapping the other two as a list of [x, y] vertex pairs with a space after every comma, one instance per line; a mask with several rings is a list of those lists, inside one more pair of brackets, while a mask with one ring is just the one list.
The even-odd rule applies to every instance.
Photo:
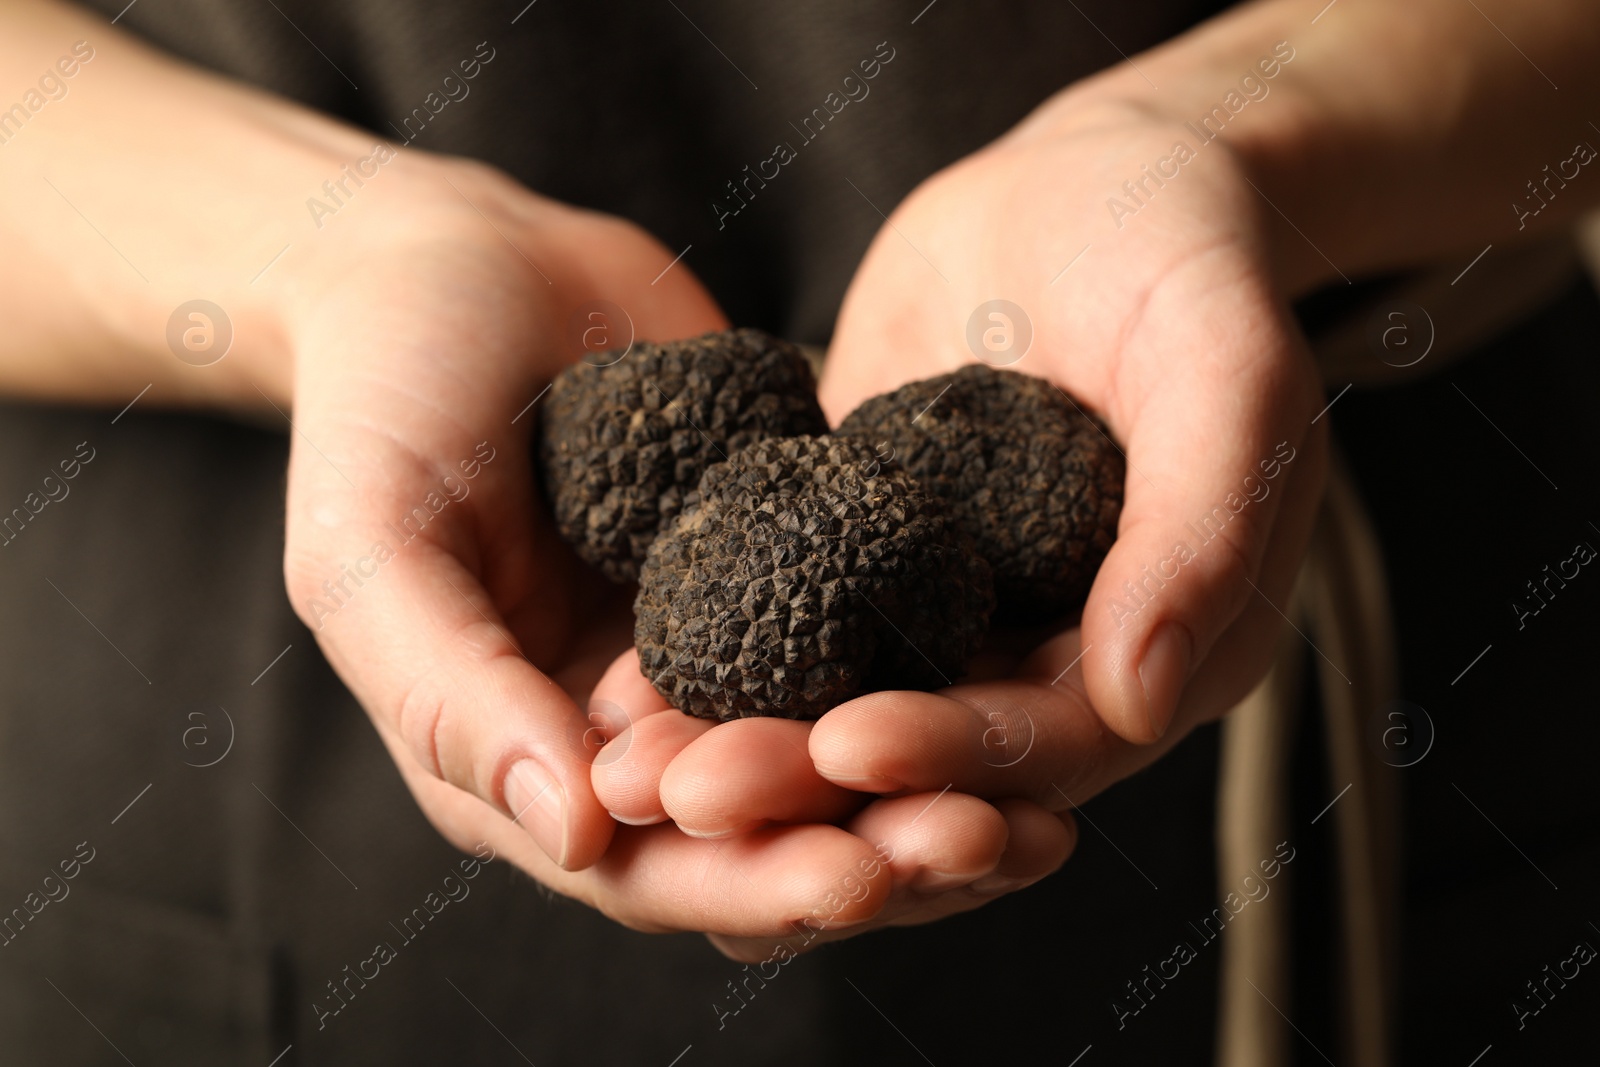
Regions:
[[650, 550], [640, 669], [702, 718], [818, 718], [952, 683], [989, 629], [989, 565], [944, 504], [859, 442], [733, 453]]

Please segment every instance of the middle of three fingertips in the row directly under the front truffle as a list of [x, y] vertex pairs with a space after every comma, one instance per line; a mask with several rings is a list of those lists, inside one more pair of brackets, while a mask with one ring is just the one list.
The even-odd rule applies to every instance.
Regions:
[[832, 822], [866, 803], [816, 773], [811, 723], [736, 718], [699, 736], [661, 776], [661, 805], [685, 833], [722, 838], [766, 822]]

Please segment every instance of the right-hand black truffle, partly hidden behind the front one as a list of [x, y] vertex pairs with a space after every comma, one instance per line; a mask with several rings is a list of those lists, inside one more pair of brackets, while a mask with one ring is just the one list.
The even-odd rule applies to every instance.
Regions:
[[1125, 464], [1106, 427], [1059, 389], [963, 366], [867, 400], [838, 434], [872, 445], [950, 506], [994, 566], [1003, 616], [1083, 606], [1117, 537]]

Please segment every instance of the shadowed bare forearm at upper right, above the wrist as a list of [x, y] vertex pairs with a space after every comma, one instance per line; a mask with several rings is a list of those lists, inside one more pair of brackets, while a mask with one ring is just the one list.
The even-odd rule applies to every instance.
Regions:
[[[1280, 42], [1293, 58], [1264, 77], [1258, 62]], [[1600, 202], [1600, 173], [1582, 163], [1600, 147], [1584, 110], [1600, 94], [1597, 51], [1600, 11], [1582, 0], [1270, 0], [1046, 110], [1131, 102], [1200, 154], [1202, 138], [1229, 146], [1270, 202], [1280, 278], [1301, 293], [1549, 234]]]

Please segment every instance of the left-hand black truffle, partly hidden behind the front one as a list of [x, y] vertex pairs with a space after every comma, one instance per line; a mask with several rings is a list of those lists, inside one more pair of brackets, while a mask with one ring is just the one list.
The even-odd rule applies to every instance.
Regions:
[[752, 442], [826, 430], [800, 349], [730, 330], [562, 371], [541, 413], [539, 466], [562, 536], [627, 582], [706, 467]]

